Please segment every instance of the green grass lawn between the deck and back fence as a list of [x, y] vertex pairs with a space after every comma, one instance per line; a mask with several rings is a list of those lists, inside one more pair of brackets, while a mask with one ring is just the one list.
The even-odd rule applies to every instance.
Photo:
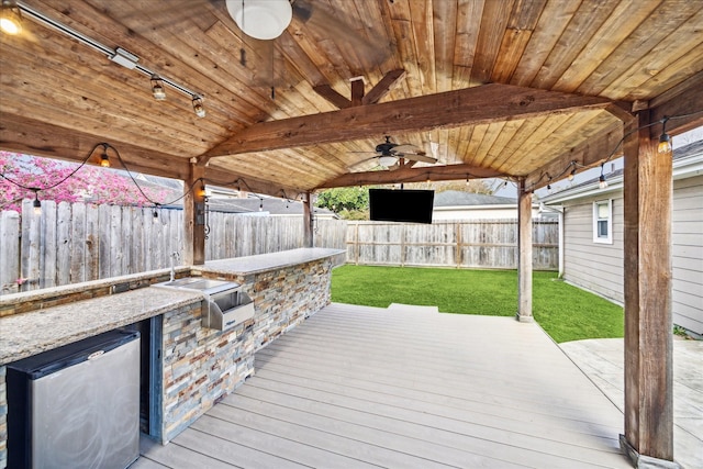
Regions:
[[[342, 266], [332, 272], [332, 301], [387, 308], [438, 306], [443, 313], [514, 316], [515, 270]], [[623, 309], [557, 279], [533, 273], [535, 321], [557, 343], [623, 337]]]

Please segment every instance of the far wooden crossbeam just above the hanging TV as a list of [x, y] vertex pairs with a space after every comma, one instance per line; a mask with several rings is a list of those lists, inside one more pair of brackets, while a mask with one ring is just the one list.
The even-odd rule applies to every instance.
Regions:
[[350, 172], [320, 185], [316, 189], [335, 187], [391, 185], [399, 182], [453, 181], [458, 179], [483, 179], [505, 176], [493, 169], [469, 165], [424, 166], [413, 168], [404, 165], [394, 171]]

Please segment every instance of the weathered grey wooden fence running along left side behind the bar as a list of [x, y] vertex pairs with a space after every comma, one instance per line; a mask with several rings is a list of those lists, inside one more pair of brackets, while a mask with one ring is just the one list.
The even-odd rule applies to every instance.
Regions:
[[[154, 216], [154, 213], [157, 216]], [[300, 216], [211, 212], [205, 257], [223, 259], [303, 246]], [[345, 248], [346, 222], [315, 221], [315, 246]], [[181, 210], [32, 200], [0, 213], [0, 294], [170, 266], [183, 252]]]

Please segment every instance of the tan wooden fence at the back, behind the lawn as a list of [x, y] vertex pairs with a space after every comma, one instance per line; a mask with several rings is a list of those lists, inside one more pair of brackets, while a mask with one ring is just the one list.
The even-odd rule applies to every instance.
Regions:
[[[534, 269], [558, 269], [558, 233], [556, 221], [533, 222]], [[515, 269], [517, 221], [443, 221], [431, 225], [348, 222], [347, 263]]]

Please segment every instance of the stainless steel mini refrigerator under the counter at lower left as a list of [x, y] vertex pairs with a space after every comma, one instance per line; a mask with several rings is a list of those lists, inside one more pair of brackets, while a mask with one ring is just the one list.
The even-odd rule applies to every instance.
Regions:
[[111, 331], [8, 365], [10, 468], [123, 469], [140, 455], [140, 334]]

